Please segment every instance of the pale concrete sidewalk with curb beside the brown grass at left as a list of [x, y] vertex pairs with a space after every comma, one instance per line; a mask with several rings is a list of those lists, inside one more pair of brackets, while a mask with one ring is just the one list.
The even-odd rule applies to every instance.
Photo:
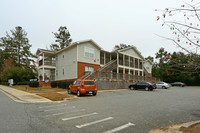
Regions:
[[22, 103], [51, 102], [51, 100], [38, 96], [36, 94], [16, 90], [3, 85], [0, 85], [0, 90], [16, 102], [22, 102]]

